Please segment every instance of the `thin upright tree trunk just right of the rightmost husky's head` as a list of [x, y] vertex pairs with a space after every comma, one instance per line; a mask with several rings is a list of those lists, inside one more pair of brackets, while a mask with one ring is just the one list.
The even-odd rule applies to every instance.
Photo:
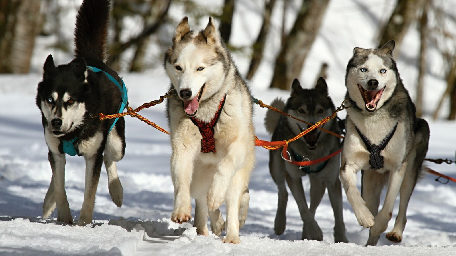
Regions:
[[423, 5], [421, 19], [420, 19], [420, 60], [419, 60], [419, 70], [418, 70], [418, 81], [416, 83], [416, 116], [421, 117], [423, 115], [423, 87], [424, 87], [424, 78], [426, 74], [426, 48], [427, 48], [427, 38], [428, 38], [428, 28], [427, 28], [427, 6], [429, 0], [425, 0], [425, 5]]

